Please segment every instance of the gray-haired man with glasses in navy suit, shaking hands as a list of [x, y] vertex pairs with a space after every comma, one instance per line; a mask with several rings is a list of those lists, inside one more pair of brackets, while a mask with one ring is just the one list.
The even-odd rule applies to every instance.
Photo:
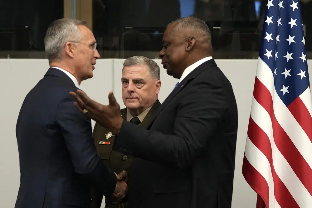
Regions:
[[60, 19], [46, 32], [50, 68], [27, 94], [17, 119], [21, 181], [15, 208], [87, 208], [91, 183], [105, 197], [118, 200], [125, 194], [126, 178], [103, 165], [91, 120], [69, 94], [93, 76], [100, 58], [85, 25]]

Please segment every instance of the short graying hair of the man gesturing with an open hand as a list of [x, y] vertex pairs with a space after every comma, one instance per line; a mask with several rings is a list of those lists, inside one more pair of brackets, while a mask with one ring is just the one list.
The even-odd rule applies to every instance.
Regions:
[[197, 17], [182, 17], [170, 22], [169, 25], [176, 23], [176, 30], [190, 30], [196, 32], [200, 36], [205, 36], [208, 43], [211, 44], [211, 32], [206, 22]]

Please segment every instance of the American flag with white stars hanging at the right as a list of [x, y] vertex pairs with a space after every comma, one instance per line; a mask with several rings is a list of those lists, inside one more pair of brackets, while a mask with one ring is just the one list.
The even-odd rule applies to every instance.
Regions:
[[257, 208], [312, 208], [311, 114], [300, 2], [268, 0], [242, 167]]

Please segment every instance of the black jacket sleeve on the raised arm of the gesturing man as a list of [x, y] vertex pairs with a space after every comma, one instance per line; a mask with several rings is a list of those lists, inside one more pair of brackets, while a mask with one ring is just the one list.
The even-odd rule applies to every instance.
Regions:
[[188, 96], [180, 102], [173, 134], [123, 122], [116, 145], [132, 151], [134, 157], [158, 164], [181, 169], [190, 166], [215, 134], [228, 104], [221, 85], [201, 81], [183, 90]]

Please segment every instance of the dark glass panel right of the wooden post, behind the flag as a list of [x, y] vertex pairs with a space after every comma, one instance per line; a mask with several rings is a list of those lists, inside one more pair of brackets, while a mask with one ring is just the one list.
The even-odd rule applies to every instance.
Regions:
[[[308, 45], [312, 3], [300, 3]], [[257, 59], [266, 4], [267, 0], [93, 0], [93, 32], [102, 58], [157, 58], [166, 25], [195, 16], [211, 30], [216, 59]], [[307, 46], [308, 58], [310, 51]]]

